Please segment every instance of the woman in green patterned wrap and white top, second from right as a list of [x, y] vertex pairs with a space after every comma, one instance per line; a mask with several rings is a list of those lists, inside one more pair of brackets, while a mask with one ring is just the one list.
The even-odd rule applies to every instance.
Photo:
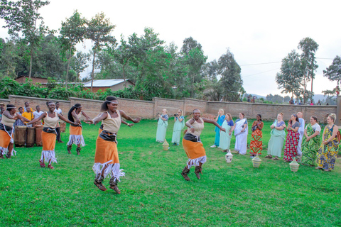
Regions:
[[320, 147], [320, 132], [321, 127], [318, 125], [318, 118], [311, 116], [310, 123], [305, 126], [304, 130], [301, 161], [303, 165], [316, 165], [316, 154]]

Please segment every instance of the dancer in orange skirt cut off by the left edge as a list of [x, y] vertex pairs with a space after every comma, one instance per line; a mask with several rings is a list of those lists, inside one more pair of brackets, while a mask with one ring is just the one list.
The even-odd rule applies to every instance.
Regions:
[[16, 106], [12, 104], [7, 105], [6, 111], [2, 115], [0, 123], [0, 158], [11, 158], [13, 155], [13, 123], [20, 119], [21, 121], [28, 121], [27, 118], [16, 114]]

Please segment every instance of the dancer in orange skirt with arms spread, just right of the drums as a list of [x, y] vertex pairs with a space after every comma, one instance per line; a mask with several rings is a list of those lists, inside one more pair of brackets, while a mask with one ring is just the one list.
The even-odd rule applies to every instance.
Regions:
[[41, 133], [41, 139], [43, 140], [43, 151], [41, 152], [41, 157], [39, 160], [40, 167], [45, 167], [45, 162], [48, 162], [48, 168], [53, 169], [54, 167], [51, 165], [52, 162], [56, 162], [55, 159], [55, 139], [57, 136], [57, 132], [55, 131], [55, 126], [59, 119], [67, 122], [73, 123], [72, 121], [67, 120], [67, 118], [63, 117], [60, 114], [55, 113], [55, 103], [53, 101], [46, 102], [48, 106], [48, 112], [41, 114], [40, 117], [33, 119], [28, 122], [28, 124], [36, 123], [41, 119], [44, 119], [44, 128]]

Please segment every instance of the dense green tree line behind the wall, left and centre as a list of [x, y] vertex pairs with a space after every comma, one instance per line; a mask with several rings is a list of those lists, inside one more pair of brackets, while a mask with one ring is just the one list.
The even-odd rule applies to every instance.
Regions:
[[[80, 73], [91, 65], [92, 72], [83, 81], [131, 79], [136, 84], [134, 94], [145, 100], [157, 96], [240, 101], [245, 92], [241, 68], [229, 50], [219, 60], [207, 62], [194, 38], [185, 38], [178, 48], [167, 45], [153, 28], [117, 40], [111, 35], [115, 26], [104, 13], [87, 19], [75, 11], [53, 31], [39, 13], [48, 4], [1, 0], [0, 18], [10, 37], [0, 38], [1, 78], [51, 77], [67, 84], [80, 82]], [[92, 40], [90, 52], [77, 51], [76, 45], [85, 40]]]

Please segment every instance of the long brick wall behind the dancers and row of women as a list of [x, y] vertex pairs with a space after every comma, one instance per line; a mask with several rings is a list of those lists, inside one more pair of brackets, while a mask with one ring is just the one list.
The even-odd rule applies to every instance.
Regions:
[[[340, 98], [340, 97], [339, 97]], [[230, 113], [234, 118], [238, 117], [239, 113], [245, 114], [246, 118], [256, 118], [256, 114], [261, 114], [262, 118], [268, 120], [274, 120], [278, 113], [283, 113], [284, 119], [287, 121], [291, 114], [302, 112], [305, 121], [309, 121], [310, 116], [317, 116], [320, 121], [323, 121], [325, 114], [337, 113], [337, 106], [297, 106], [297, 105], [280, 105], [280, 104], [250, 104], [250, 103], [235, 103], [235, 102], [223, 102], [223, 101], [202, 101], [197, 99], [161, 99], [154, 98], [153, 101], [141, 101], [135, 99], [119, 99], [119, 109], [122, 109], [126, 114], [142, 118], [155, 118], [158, 113], [161, 113], [162, 109], [167, 109], [168, 115], [173, 114], [182, 109], [185, 115], [190, 115], [193, 109], [200, 109], [205, 114], [217, 114], [219, 109], [224, 109], [224, 113]], [[47, 111], [46, 101], [53, 100], [60, 102], [60, 108], [63, 113], [66, 114], [71, 106], [80, 103], [83, 106], [83, 110], [92, 118], [100, 113], [101, 105], [103, 101], [92, 99], [78, 99], [70, 98], [70, 101], [55, 100], [55, 99], [40, 99], [26, 96], [14, 96], [10, 95], [9, 99], [0, 99], [0, 102], [4, 104], [15, 104], [23, 106], [25, 101], [30, 102], [31, 108], [35, 109], [37, 105], [40, 105], [43, 111]], [[341, 105], [341, 98], [338, 99], [339, 106]], [[341, 118], [341, 109], [338, 109], [340, 114], [337, 118]]]

